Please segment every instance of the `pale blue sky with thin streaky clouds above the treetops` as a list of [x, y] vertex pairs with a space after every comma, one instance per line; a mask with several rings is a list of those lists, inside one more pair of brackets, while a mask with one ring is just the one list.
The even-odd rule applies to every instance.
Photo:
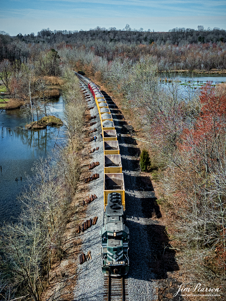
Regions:
[[168, 31], [174, 27], [226, 29], [225, 0], [1, 0], [0, 30], [11, 36], [96, 26]]

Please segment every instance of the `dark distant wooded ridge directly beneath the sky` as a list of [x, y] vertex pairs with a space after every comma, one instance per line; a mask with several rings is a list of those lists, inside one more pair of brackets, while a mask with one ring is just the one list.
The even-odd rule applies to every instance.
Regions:
[[[136, 43], [136, 44], [144, 44], [149, 45], [152, 42], [155, 42], [157, 45], [160, 44], [176, 44], [176, 45], [184, 45], [184, 44], [193, 44], [193, 43], [216, 43], [216, 42], [224, 42], [226, 40], [226, 31], [225, 29], [220, 29], [218, 27], [214, 27], [211, 29], [208, 27], [204, 29], [204, 26], [199, 25], [197, 29], [185, 28], [185, 27], [175, 27], [173, 29], [169, 29], [168, 32], [155, 32], [154, 29], [148, 31], [143, 31], [143, 28], [132, 29], [129, 24], [125, 26], [124, 29], [116, 29], [115, 27], [110, 27], [106, 29], [105, 27], [96, 26], [94, 29], [89, 30], [50, 30], [42, 29], [35, 36], [34, 33], [30, 33], [30, 35], [22, 35], [21, 33], [17, 34], [19, 39], [24, 40], [25, 42], [36, 42], [47, 40], [56, 41], [59, 36], [64, 36], [67, 39], [70, 39], [71, 42], [78, 42], [80, 39], [93, 40], [93, 39], [102, 39], [105, 42], [113, 42], [113, 43]], [[46, 39], [47, 38], [47, 39]], [[46, 42], [47, 42], [46, 41]]]

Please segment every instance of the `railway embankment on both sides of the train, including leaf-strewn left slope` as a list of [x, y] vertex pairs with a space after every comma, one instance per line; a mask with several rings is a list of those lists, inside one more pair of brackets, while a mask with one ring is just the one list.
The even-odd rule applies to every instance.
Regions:
[[[74, 201], [74, 213], [67, 224], [64, 235], [65, 256], [51, 273], [48, 297], [59, 300], [104, 300], [104, 275], [101, 270], [101, 240], [99, 230], [103, 219], [104, 155], [103, 141], [100, 135], [101, 123], [98, 110], [88, 88], [81, 89], [87, 101], [86, 133], [81, 151], [82, 172]], [[171, 277], [178, 269], [174, 252], [168, 256], [165, 245], [168, 244], [166, 228], [159, 220], [161, 211], [157, 205], [153, 184], [148, 175], [140, 172], [140, 148], [133, 136], [133, 126], [125, 120], [122, 112], [112, 98], [102, 91], [110, 108], [120, 147], [121, 163], [124, 173], [127, 226], [130, 230], [130, 271], [127, 275], [127, 293], [129, 300], [154, 301], [173, 300], [166, 295], [177, 287], [177, 280]], [[96, 124], [90, 126], [89, 116], [96, 116]], [[96, 132], [88, 134], [93, 129]], [[97, 139], [89, 141], [96, 135]], [[120, 135], [119, 135], [120, 134]], [[120, 137], [121, 136], [121, 137]], [[98, 150], [96, 150], [99, 147]], [[95, 149], [95, 151], [93, 151]], [[89, 170], [92, 162], [99, 165]], [[86, 181], [93, 174], [99, 177]], [[84, 202], [90, 195], [97, 198], [90, 203]], [[85, 204], [84, 204], [85, 203]], [[84, 204], [84, 205], [83, 205]], [[98, 217], [96, 225], [81, 231], [86, 220]], [[80, 229], [79, 229], [80, 225]], [[80, 230], [80, 233], [78, 233]], [[79, 263], [79, 255], [91, 255], [91, 259]], [[168, 285], [168, 282], [170, 284]], [[172, 296], [172, 294], [170, 295]], [[43, 299], [44, 300], [44, 299]]]

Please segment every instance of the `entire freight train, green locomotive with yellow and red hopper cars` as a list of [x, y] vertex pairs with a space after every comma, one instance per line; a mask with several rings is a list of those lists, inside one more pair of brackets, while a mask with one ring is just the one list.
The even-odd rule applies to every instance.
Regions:
[[129, 230], [126, 226], [121, 155], [107, 101], [93, 82], [89, 82], [88, 87], [99, 111], [104, 143], [104, 218], [100, 231], [102, 272], [117, 277], [129, 271]]

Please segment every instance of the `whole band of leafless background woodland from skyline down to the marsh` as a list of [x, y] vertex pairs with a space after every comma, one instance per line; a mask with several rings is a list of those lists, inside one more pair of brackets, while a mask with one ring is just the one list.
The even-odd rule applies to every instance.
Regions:
[[28, 61], [51, 49], [68, 51], [70, 48], [97, 55], [108, 62], [118, 58], [136, 61], [143, 55], [152, 55], [157, 60], [159, 72], [226, 69], [226, 31], [198, 27], [198, 30], [174, 28], [166, 33], [103, 30], [99, 27], [80, 32], [47, 28], [36, 36], [31, 33], [14, 37], [0, 32], [0, 62], [4, 59], [11, 63]]

